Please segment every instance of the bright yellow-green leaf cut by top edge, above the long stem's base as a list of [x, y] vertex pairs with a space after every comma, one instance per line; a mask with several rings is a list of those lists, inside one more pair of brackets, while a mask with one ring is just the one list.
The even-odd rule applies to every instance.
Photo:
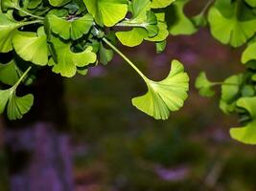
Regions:
[[83, 0], [97, 24], [112, 27], [123, 20], [128, 12], [127, 0]]

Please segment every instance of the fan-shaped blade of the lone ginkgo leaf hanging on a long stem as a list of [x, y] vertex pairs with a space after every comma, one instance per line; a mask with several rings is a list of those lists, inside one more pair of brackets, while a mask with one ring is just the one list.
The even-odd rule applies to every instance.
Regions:
[[156, 119], [167, 119], [170, 112], [183, 106], [189, 89], [189, 76], [184, 73], [180, 62], [172, 62], [170, 74], [162, 81], [155, 82], [144, 78], [148, 93], [132, 99], [132, 104], [139, 110]]

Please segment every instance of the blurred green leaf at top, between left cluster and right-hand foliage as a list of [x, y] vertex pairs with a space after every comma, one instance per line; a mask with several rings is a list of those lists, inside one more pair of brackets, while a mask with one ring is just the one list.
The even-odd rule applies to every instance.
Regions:
[[169, 26], [169, 32], [173, 35], [179, 34], [192, 34], [198, 31], [193, 24], [192, 20], [189, 19], [183, 9], [189, 0], [175, 0], [167, 9], [167, 23]]

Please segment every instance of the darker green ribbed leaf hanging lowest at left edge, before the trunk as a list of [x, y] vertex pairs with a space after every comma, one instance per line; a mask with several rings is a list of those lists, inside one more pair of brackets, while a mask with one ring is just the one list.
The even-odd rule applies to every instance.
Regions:
[[16, 96], [13, 87], [8, 90], [0, 90], [0, 114], [3, 114], [7, 106], [7, 115], [11, 120], [22, 118], [33, 105], [34, 96]]

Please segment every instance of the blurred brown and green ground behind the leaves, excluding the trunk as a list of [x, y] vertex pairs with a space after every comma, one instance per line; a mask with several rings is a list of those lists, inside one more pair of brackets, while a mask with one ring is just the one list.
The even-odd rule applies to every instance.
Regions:
[[[200, 8], [198, 3], [188, 12], [193, 15]], [[166, 121], [139, 112], [130, 99], [145, 93], [144, 82], [117, 55], [87, 76], [65, 79], [75, 190], [256, 190], [255, 147], [236, 142], [228, 134], [230, 127], [238, 125], [237, 117], [221, 113], [218, 88], [214, 98], [198, 96], [194, 88], [202, 70], [214, 81], [242, 72], [241, 50], [221, 45], [207, 29], [170, 37], [160, 54], [151, 43], [135, 49], [119, 47], [154, 80], [169, 73], [172, 59], [180, 60], [191, 77], [189, 98]], [[1, 191], [10, 189], [5, 129], [1, 123]]]

